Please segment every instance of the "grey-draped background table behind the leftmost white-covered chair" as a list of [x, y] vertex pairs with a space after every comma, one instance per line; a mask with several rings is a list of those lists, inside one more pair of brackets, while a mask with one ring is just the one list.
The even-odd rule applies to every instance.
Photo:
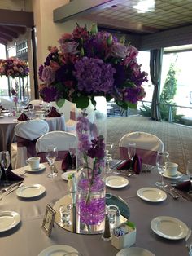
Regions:
[[[53, 130], [65, 130], [65, 118], [61, 117], [46, 117], [45, 119], [49, 125], [50, 131]], [[18, 121], [16, 117], [9, 117], [8, 114], [4, 114], [3, 118], [0, 118], [0, 151], [10, 150], [11, 143], [15, 141], [14, 128]]]

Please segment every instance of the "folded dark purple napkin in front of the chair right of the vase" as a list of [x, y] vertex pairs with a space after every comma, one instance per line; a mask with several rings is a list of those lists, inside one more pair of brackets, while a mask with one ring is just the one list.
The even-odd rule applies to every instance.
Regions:
[[135, 174], [140, 174], [140, 172], [142, 170], [142, 158], [137, 156], [137, 154], [133, 157], [133, 161], [131, 161], [131, 159], [128, 159], [127, 161], [124, 161], [116, 169], [117, 170], [129, 170], [130, 168], [133, 168], [133, 172]]

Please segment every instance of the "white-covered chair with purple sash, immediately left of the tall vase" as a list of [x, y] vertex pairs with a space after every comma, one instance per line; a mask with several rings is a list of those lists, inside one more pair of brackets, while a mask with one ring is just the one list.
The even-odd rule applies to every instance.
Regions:
[[36, 143], [37, 156], [41, 157], [41, 162], [47, 161], [46, 147], [49, 145], [57, 147], [58, 157], [56, 160], [63, 160], [69, 148], [76, 148], [76, 135], [61, 130], [50, 131], [46, 135], [42, 135]]

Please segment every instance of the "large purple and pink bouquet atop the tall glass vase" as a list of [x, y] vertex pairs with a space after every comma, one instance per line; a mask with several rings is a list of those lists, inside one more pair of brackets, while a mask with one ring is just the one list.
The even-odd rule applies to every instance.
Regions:
[[[86, 108], [95, 96], [115, 99], [121, 108], [137, 108], [143, 99], [147, 73], [137, 63], [135, 47], [118, 42], [111, 33], [90, 31], [78, 24], [72, 33], [63, 34], [59, 48], [49, 46], [49, 55], [39, 68], [40, 95], [45, 101], [64, 104], [64, 99]], [[62, 99], [62, 100], [61, 100]]]

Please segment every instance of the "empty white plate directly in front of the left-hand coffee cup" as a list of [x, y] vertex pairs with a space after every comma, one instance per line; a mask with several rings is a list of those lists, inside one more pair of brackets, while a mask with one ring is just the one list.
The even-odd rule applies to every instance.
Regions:
[[23, 198], [33, 198], [36, 196], [40, 196], [46, 191], [46, 188], [40, 184], [32, 184], [28, 186], [23, 186], [17, 189], [17, 196]]

